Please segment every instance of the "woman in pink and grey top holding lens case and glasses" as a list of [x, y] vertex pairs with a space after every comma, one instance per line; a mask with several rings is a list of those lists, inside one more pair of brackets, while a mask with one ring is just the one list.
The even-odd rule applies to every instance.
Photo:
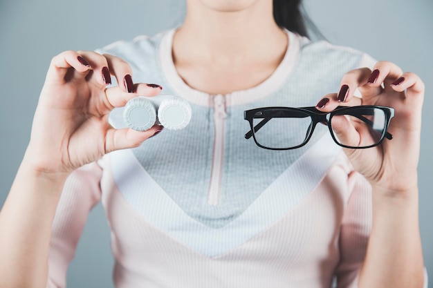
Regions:
[[[426, 285], [416, 182], [423, 82], [300, 37], [291, 3], [275, 10], [295, 19], [293, 32], [275, 23], [270, 0], [189, 0], [176, 30], [54, 57], [0, 214], [2, 285], [64, 287], [99, 200], [117, 287], [330, 287], [334, 276], [339, 287]], [[191, 103], [184, 130], [132, 131], [110, 114], [161, 90]], [[294, 150], [243, 139], [243, 111], [312, 105], [393, 107], [394, 139], [341, 151], [324, 126]], [[339, 137], [359, 139], [344, 124]]]

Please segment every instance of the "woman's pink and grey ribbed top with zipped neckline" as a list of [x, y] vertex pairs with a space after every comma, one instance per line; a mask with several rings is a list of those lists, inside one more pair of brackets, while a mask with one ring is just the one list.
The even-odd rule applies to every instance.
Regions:
[[[369, 184], [325, 127], [317, 126], [304, 148], [267, 151], [243, 138], [249, 130], [243, 111], [314, 106], [338, 91], [344, 73], [374, 60], [288, 32], [286, 56], [268, 80], [207, 95], [176, 74], [173, 33], [98, 50], [125, 59], [134, 82], [160, 84], [164, 93], [187, 99], [192, 120], [68, 178], [53, 224], [48, 287], [65, 287], [68, 262], [99, 200], [111, 229], [118, 288], [318, 288], [331, 287], [335, 276], [339, 288], [357, 287], [371, 228]], [[225, 99], [222, 107], [217, 97]], [[110, 122], [125, 126], [121, 108]], [[216, 145], [221, 140], [223, 147]], [[214, 175], [220, 178], [212, 181]], [[220, 184], [213, 204], [211, 182]]]

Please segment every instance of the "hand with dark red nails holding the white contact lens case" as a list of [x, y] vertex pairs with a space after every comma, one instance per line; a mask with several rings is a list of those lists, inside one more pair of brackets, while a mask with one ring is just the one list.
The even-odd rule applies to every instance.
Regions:
[[[118, 86], [106, 88], [115, 76]], [[131, 68], [118, 57], [65, 51], [48, 68], [24, 162], [37, 173], [68, 174], [110, 151], [140, 145], [158, 133], [116, 130], [109, 112], [138, 95], [154, 96], [160, 86], [133, 84]]]

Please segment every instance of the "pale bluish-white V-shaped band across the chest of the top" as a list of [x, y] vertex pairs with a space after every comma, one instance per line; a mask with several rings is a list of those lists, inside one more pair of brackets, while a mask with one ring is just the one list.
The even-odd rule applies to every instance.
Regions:
[[328, 170], [329, 161], [333, 161], [340, 151], [323, 151], [323, 146], [333, 144], [330, 136], [322, 137], [308, 153], [279, 175], [248, 209], [223, 227], [211, 227], [187, 215], [142, 169], [130, 151], [113, 152], [110, 161], [113, 180], [136, 213], [178, 242], [214, 257], [267, 229], [311, 193]]

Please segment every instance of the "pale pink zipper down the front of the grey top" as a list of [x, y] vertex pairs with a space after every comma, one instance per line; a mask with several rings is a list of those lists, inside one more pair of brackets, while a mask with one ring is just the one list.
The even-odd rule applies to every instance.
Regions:
[[223, 153], [225, 133], [225, 97], [221, 94], [214, 95], [214, 155], [212, 157], [212, 171], [210, 174], [210, 186], [208, 204], [216, 206], [219, 203], [221, 190], [221, 177], [223, 174]]

